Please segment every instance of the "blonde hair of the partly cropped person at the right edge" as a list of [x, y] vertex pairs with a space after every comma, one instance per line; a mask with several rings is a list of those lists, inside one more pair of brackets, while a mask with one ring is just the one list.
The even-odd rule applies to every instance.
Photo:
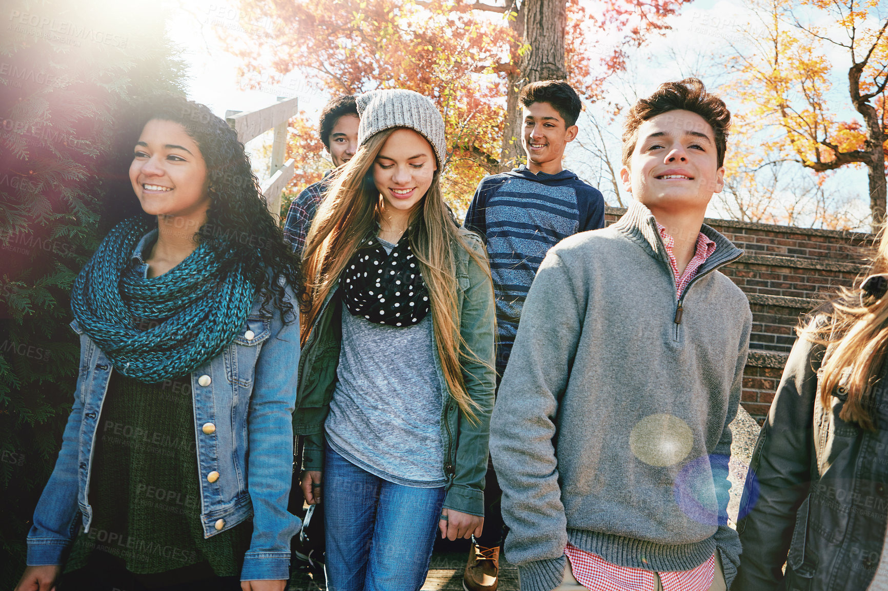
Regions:
[[[871, 274], [888, 273], [888, 234], [881, 239], [871, 264]], [[840, 288], [838, 297], [798, 334], [813, 343], [827, 345], [822, 365], [821, 403], [829, 408], [838, 388], [848, 398], [839, 417], [857, 422], [861, 429], [876, 430], [873, 392], [888, 345], [888, 294], [870, 296], [860, 285]]]

